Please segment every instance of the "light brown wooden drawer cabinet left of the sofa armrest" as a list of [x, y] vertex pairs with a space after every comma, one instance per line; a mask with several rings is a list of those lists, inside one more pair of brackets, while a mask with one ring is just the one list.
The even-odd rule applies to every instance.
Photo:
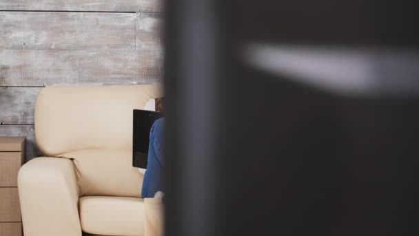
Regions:
[[25, 137], [0, 137], [0, 235], [22, 235], [17, 173], [24, 156]]

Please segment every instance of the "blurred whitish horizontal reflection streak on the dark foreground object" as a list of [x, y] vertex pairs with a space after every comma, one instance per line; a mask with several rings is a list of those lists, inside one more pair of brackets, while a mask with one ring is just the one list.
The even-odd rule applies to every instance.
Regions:
[[252, 44], [244, 52], [255, 68], [338, 95], [419, 92], [419, 53], [414, 50]]

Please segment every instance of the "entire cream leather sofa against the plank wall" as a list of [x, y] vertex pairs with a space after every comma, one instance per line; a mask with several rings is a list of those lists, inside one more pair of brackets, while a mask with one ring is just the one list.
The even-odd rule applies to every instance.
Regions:
[[132, 110], [161, 86], [44, 88], [35, 135], [48, 157], [19, 171], [25, 236], [144, 235], [143, 175], [132, 167]]

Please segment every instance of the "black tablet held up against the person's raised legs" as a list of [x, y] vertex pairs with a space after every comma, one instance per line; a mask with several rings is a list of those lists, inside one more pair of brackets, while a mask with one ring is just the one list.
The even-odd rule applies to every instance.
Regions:
[[134, 110], [132, 130], [132, 166], [147, 168], [148, 143], [150, 130], [156, 119], [163, 117], [161, 112]]

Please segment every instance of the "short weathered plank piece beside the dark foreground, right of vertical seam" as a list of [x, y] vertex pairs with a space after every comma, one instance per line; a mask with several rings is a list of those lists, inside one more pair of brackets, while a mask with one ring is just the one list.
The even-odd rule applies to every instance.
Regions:
[[163, 14], [161, 12], [136, 14], [136, 48], [163, 48]]

